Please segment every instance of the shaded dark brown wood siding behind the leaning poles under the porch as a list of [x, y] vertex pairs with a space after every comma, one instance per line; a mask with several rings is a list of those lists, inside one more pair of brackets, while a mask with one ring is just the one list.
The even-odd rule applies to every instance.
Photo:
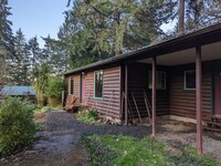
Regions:
[[[128, 95], [131, 104], [133, 115], [138, 117], [131, 93], [136, 98], [140, 115], [147, 117], [147, 110], [144, 101], [144, 90], [147, 93], [148, 101], [151, 105], [151, 90], [148, 89], [148, 71], [151, 71], [151, 65], [145, 63], [133, 63], [128, 65]], [[165, 71], [167, 68], [158, 66], [158, 71]], [[166, 79], [167, 80], [167, 79]], [[169, 90], [157, 90], [157, 115], [167, 115], [169, 113]]]

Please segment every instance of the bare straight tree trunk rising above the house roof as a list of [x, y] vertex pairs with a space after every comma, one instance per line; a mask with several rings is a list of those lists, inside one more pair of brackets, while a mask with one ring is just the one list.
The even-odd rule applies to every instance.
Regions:
[[185, 0], [179, 0], [179, 34], [185, 31]]

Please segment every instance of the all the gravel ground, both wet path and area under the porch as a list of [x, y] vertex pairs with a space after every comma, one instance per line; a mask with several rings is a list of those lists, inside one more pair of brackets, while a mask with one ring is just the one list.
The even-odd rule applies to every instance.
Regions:
[[[48, 112], [38, 118], [44, 126], [44, 129], [38, 133], [40, 139], [31, 148], [0, 160], [0, 166], [84, 166], [88, 165], [88, 159], [81, 143], [83, 135], [122, 134], [144, 137], [151, 132], [148, 126], [88, 125], [63, 111]], [[159, 133], [157, 138], [169, 143], [172, 147], [196, 146], [193, 124], [168, 121], [157, 126]], [[221, 135], [207, 132], [203, 141], [204, 152], [221, 162]]]

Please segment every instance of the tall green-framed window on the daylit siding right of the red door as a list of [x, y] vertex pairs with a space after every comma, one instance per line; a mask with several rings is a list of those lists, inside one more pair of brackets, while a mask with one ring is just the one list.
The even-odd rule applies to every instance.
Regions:
[[94, 72], [94, 97], [103, 97], [103, 71]]

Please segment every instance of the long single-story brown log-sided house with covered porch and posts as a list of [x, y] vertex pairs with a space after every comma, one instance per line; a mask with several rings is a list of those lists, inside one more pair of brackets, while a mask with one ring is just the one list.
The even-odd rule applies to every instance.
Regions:
[[78, 96], [125, 124], [148, 116], [149, 101], [152, 135], [156, 116], [197, 123], [201, 153], [202, 123], [221, 123], [221, 23], [75, 69], [64, 79], [67, 101]]

